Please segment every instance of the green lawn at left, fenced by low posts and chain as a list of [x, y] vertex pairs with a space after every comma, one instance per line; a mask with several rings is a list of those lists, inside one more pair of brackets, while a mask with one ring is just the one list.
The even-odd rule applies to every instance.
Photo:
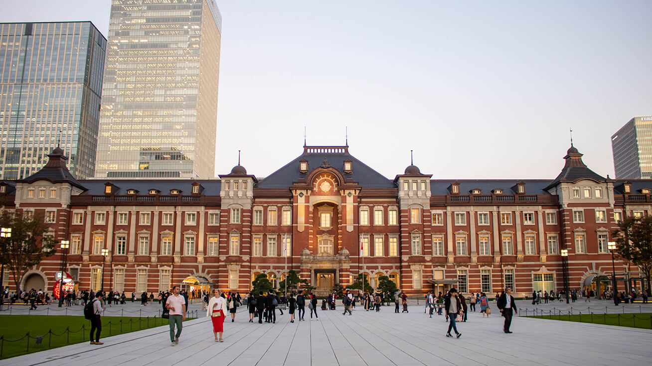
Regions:
[[[193, 318], [186, 318], [186, 320], [190, 319]], [[102, 317], [100, 341], [110, 335], [162, 325], [168, 326], [168, 319]], [[28, 332], [29, 338], [26, 337]], [[90, 332], [91, 321], [80, 316], [0, 315], [0, 359], [74, 343], [90, 342]], [[43, 337], [41, 345], [36, 345], [38, 336]]]

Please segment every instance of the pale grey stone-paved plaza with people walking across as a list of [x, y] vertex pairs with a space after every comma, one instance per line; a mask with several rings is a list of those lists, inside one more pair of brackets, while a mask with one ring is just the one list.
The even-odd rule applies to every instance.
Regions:
[[[523, 306], [519, 304], [519, 306]], [[0, 365], [70, 365], [92, 362], [133, 365], [642, 365], [652, 359], [652, 330], [515, 317], [512, 334], [503, 319], [470, 313], [458, 323], [460, 339], [447, 338], [443, 316], [432, 319], [422, 306], [395, 314], [357, 307], [353, 315], [318, 310], [319, 320], [249, 323], [246, 313], [224, 324], [224, 343], [213, 341], [208, 318], [185, 323], [178, 346], [166, 327], [103, 338], [0, 361]]]

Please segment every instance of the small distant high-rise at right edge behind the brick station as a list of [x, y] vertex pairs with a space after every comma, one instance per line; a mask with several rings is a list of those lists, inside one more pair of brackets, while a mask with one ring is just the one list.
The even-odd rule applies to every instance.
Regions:
[[612, 135], [615, 177], [652, 178], [652, 116], [636, 116]]

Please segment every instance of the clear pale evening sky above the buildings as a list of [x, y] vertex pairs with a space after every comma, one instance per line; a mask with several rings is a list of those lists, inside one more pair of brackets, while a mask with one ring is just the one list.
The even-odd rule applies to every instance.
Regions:
[[[0, 21], [91, 20], [109, 0], [0, 0]], [[245, 1], [222, 13], [217, 174], [344, 144], [385, 176], [549, 178], [570, 145], [652, 114], [652, 1]], [[211, 151], [207, 151], [211, 153]]]

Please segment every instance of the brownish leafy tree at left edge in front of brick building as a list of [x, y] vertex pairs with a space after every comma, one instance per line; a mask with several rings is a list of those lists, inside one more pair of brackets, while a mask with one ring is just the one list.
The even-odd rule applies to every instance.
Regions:
[[11, 237], [0, 240], [0, 260], [11, 272], [16, 293], [20, 294], [20, 282], [27, 269], [53, 255], [56, 241], [45, 235], [48, 225], [42, 214], [3, 211], [0, 226], [11, 228]]

